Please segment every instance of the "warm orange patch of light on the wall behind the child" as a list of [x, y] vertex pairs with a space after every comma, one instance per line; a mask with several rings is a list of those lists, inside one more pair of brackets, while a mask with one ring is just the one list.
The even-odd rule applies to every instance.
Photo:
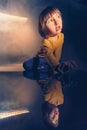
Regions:
[[0, 55], [19, 60], [20, 56], [32, 57], [35, 54], [37, 34], [30, 19], [0, 13]]

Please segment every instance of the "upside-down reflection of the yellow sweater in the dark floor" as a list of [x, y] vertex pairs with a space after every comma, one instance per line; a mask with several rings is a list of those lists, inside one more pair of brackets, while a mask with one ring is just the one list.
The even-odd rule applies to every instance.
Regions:
[[62, 92], [62, 86], [60, 81], [56, 79], [51, 79], [47, 84], [47, 92], [44, 94], [45, 101], [56, 106], [63, 104], [64, 95]]

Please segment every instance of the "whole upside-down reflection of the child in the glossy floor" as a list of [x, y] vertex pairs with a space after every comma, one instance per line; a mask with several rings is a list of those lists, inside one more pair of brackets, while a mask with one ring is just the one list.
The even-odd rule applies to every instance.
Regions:
[[45, 101], [42, 106], [44, 123], [50, 127], [57, 127], [60, 120], [59, 106], [64, 103], [61, 82], [52, 77], [41, 88]]

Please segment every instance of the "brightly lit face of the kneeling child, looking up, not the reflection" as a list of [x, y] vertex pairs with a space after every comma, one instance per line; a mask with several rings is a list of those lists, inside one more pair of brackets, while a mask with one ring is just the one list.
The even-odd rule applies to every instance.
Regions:
[[49, 36], [56, 36], [62, 30], [62, 18], [60, 14], [53, 13], [46, 22], [46, 28], [49, 31]]

